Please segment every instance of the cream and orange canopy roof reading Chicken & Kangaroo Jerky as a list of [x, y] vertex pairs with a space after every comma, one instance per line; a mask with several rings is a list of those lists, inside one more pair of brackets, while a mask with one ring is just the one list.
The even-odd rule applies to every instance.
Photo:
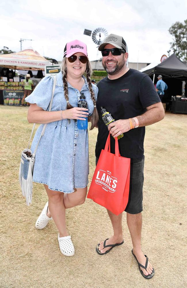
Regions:
[[9, 69], [44, 70], [45, 65], [51, 65], [51, 62], [33, 49], [0, 55], [0, 66]]

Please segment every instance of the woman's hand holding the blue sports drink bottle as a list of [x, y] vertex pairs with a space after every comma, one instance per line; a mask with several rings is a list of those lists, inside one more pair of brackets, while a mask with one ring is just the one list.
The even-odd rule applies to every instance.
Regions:
[[81, 118], [81, 117], [87, 118], [89, 115], [87, 111], [88, 109], [86, 108], [73, 107], [71, 109], [62, 110], [62, 117], [63, 119], [86, 120], [85, 118]]

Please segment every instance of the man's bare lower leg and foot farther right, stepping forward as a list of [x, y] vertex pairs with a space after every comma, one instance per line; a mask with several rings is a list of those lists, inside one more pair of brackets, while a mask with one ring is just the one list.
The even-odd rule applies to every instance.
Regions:
[[[138, 214], [129, 214], [127, 213], [127, 225], [129, 228], [129, 232], [131, 234], [132, 238], [132, 244], [133, 244], [133, 253], [138, 259], [138, 262], [145, 266], [146, 264], [146, 257], [144, 256], [144, 253], [141, 249], [141, 233], [142, 233], [142, 213]], [[152, 273], [153, 267], [148, 261], [147, 265], [147, 271], [140, 267], [140, 269], [143, 271], [144, 275], [150, 275]]]

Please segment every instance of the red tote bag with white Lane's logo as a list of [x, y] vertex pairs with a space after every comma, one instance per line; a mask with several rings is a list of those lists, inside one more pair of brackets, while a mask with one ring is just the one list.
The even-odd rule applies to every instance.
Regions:
[[87, 198], [115, 215], [122, 213], [129, 199], [130, 158], [119, 154], [115, 138], [115, 154], [110, 153], [110, 133], [102, 149]]

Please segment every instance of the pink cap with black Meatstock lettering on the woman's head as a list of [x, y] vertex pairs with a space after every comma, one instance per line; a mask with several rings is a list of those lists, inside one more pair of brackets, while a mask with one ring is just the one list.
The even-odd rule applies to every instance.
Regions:
[[77, 52], [82, 52], [88, 58], [86, 44], [76, 39], [66, 44], [64, 48], [64, 57], [66, 56], [66, 58], [68, 58]]

